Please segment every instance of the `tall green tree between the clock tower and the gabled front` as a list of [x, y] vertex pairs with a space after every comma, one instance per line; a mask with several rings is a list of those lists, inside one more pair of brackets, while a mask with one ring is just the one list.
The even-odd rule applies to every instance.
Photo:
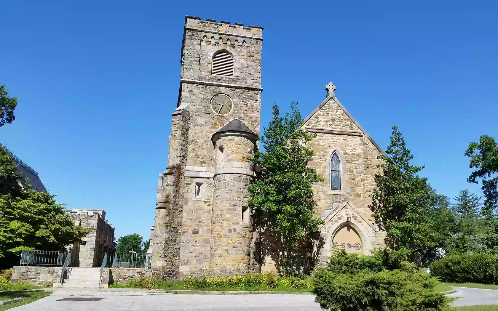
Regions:
[[313, 151], [308, 143], [316, 136], [301, 129], [303, 119], [297, 104], [280, 117], [276, 104], [273, 118], [260, 138], [265, 152], [257, 151], [253, 162], [262, 171], [249, 186], [249, 206], [266, 233], [276, 234], [280, 263], [291, 271], [291, 257], [298, 244], [317, 230], [323, 221], [313, 215], [316, 202], [311, 185], [323, 179], [308, 163]]

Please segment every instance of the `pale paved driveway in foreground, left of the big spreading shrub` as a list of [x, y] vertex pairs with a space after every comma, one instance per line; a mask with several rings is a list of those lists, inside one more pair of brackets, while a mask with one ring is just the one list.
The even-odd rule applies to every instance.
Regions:
[[[99, 301], [60, 299], [103, 298]], [[144, 292], [69, 292], [52, 295], [13, 311], [322, 311], [313, 295], [175, 295]]]

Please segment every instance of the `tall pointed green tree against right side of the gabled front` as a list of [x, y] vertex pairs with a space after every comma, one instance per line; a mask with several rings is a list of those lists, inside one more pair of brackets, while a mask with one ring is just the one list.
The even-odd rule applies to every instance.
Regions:
[[[375, 175], [377, 189], [373, 191], [372, 205], [375, 223], [386, 231], [386, 245], [391, 249], [411, 251], [415, 261], [436, 245], [429, 208], [436, 204], [434, 190], [418, 173], [423, 166], [412, 166], [413, 155], [397, 126], [392, 127], [391, 144], [377, 165], [382, 170]], [[419, 262], [419, 264], [421, 264]]]

